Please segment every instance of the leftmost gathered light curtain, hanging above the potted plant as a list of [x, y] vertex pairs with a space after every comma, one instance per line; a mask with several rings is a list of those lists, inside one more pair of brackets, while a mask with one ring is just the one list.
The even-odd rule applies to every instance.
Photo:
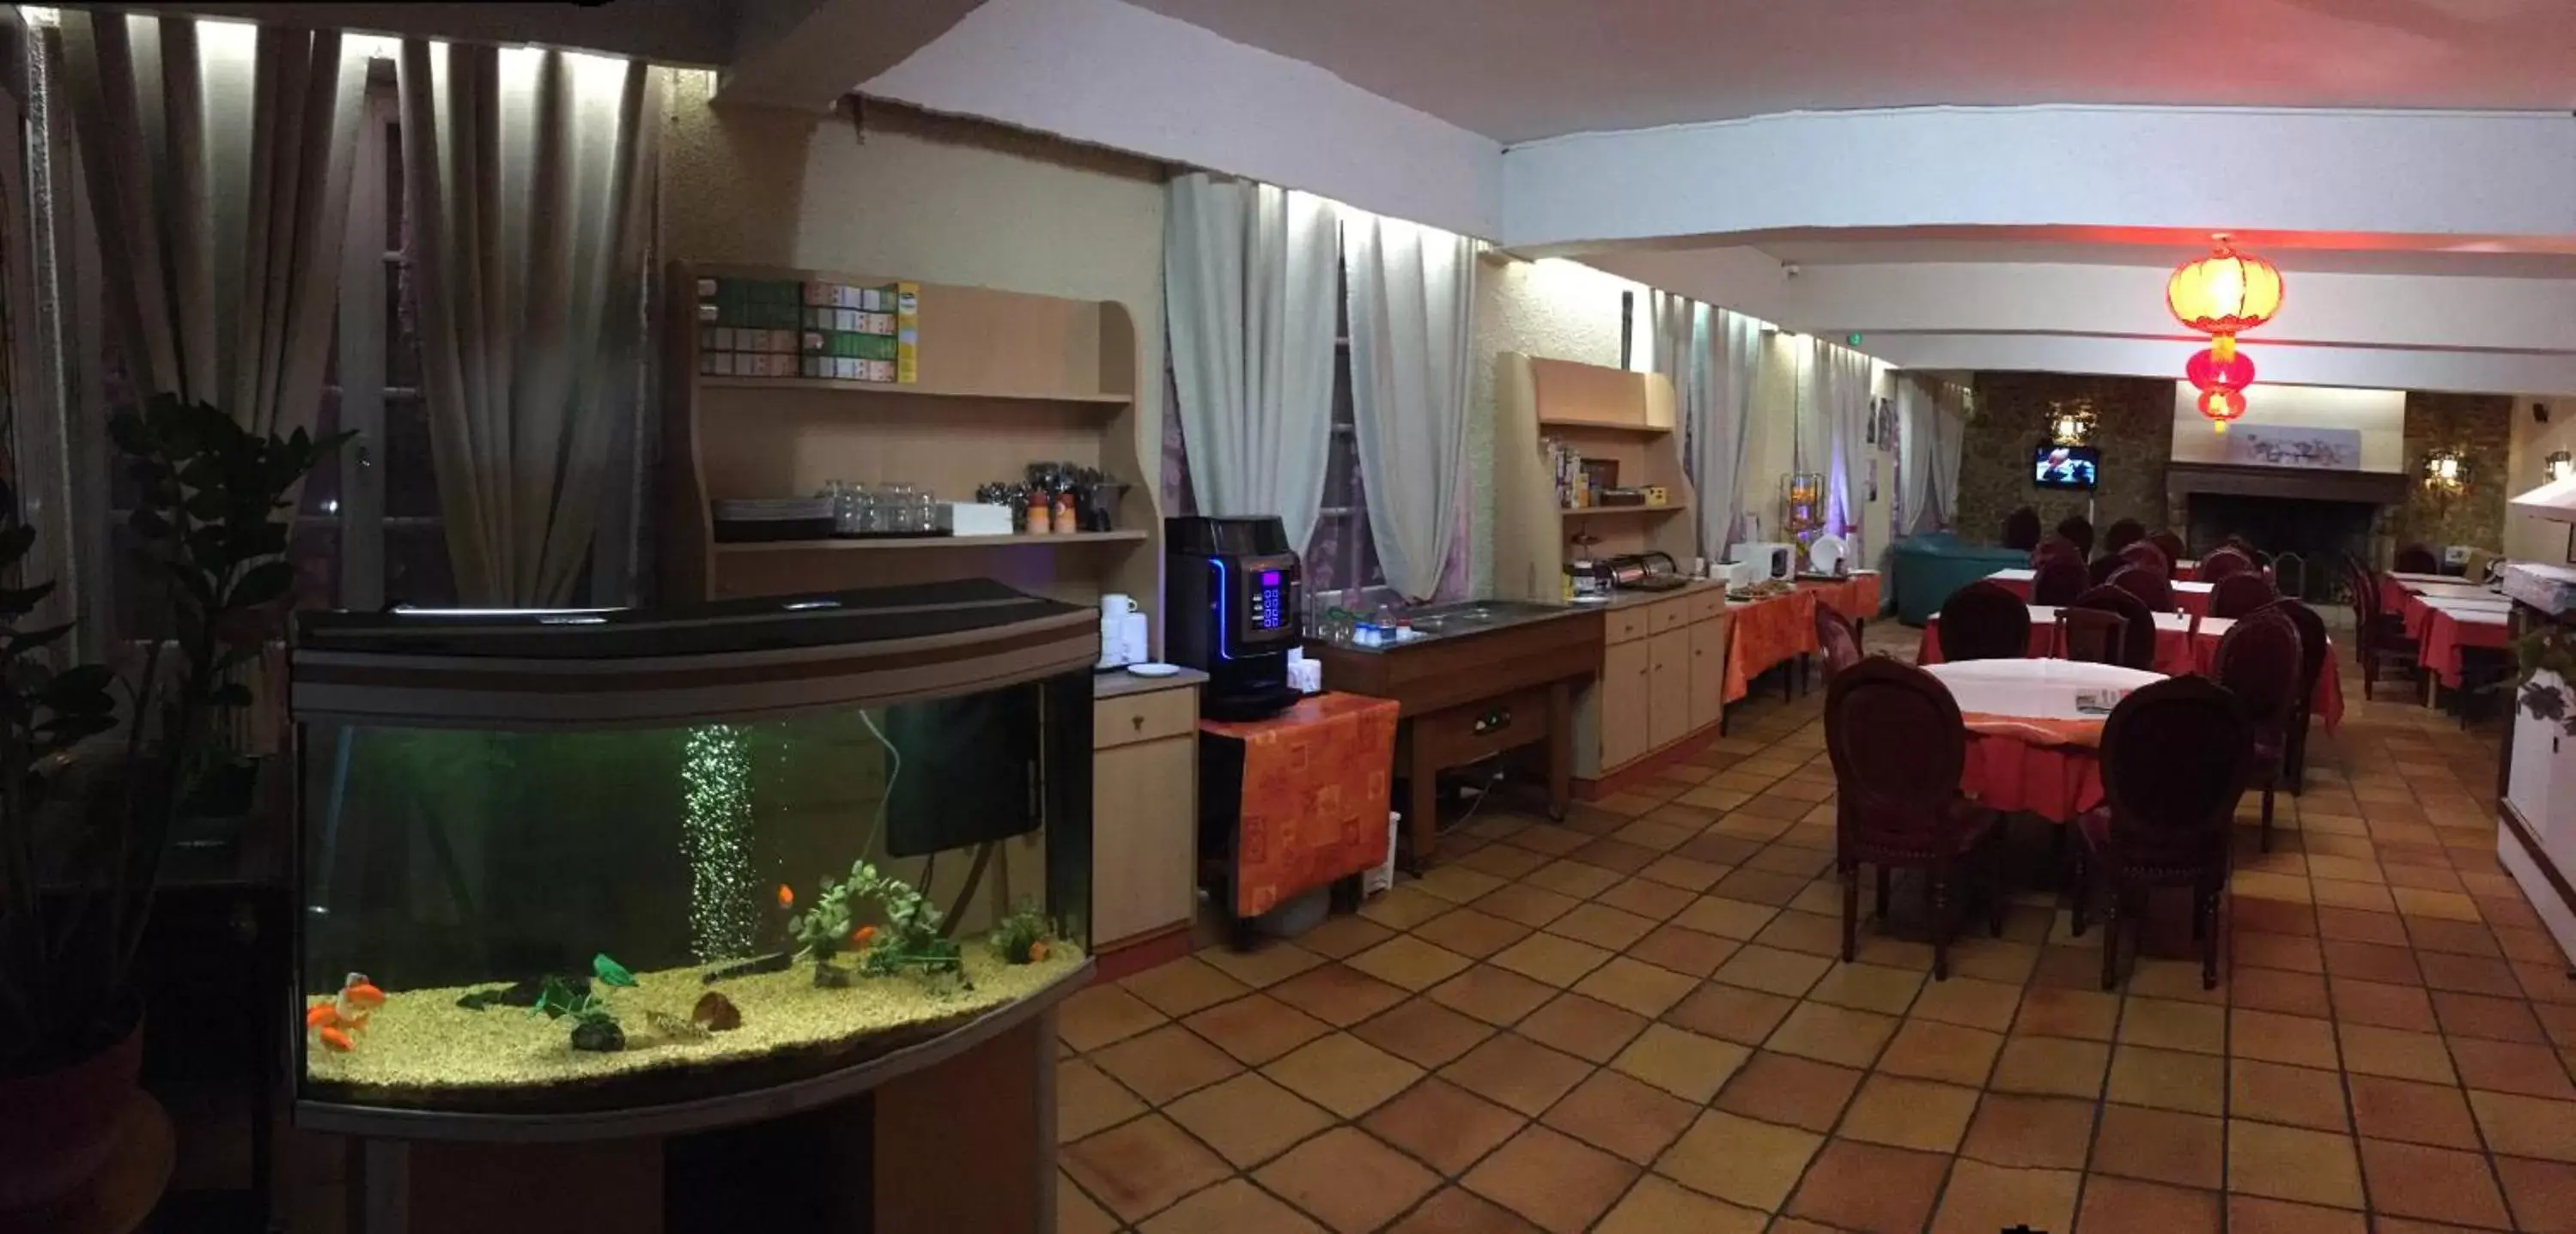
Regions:
[[366, 67], [335, 31], [80, 8], [62, 52], [134, 394], [312, 428]]

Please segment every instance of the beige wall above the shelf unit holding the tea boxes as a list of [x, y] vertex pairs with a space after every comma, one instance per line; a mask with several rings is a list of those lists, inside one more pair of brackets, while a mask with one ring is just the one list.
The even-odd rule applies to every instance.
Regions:
[[1159, 162], [889, 103], [866, 131], [711, 108], [711, 85], [672, 75], [662, 258], [1121, 301], [1144, 350], [1139, 453], [1162, 453]]

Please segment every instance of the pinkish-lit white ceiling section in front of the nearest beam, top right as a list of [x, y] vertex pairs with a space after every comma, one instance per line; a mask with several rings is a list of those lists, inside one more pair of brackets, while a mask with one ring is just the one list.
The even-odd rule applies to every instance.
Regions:
[[1502, 139], [2012, 103], [2576, 106], [2568, 0], [1131, 0]]

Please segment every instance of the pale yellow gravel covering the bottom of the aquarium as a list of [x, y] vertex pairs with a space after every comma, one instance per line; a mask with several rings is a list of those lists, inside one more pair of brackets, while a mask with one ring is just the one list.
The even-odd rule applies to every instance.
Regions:
[[[634, 989], [600, 989], [626, 1030], [626, 1049], [587, 1054], [572, 1049], [572, 1030], [528, 1007], [466, 1010], [456, 1000], [489, 989], [397, 989], [386, 982], [384, 1007], [358, 1033], [358, 1049], [307, 1046], [307, 1074], [317, 1082], [435, 1095], [459, 1090], [531, 1090], [582, 1085], [659, 1069], [750, 1061], [775, 1051], [850, 1046], [868, 1036], [925, 1020], [963, 1020], [1036, 994], [1082, 963], [1072, 945], [1054, 943], [1038, 963], [1005, 963], [981, 940], [966, 943], [971, 989], [917, 976], [868, 976], [845, 989], [814, 984], [811, 963], [778, 974], [701, 982], [708, 969], [639, 971]], [[495, 982], [502, 984], [502, 982]], [[644, 1012], [688, 1020], [698, 994], [724, 992], [742, 1007], [742, 1028], [711, 1036], [657, 1030]]]

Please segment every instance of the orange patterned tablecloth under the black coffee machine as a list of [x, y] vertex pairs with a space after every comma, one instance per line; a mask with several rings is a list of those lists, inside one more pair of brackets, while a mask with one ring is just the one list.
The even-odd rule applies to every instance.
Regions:
[[1244, 742], [1236, 917], [1386, 860], [1396, 711], [1394, 698], [1319, 693], [1270, 719], [1198, 721], [1208, 737]]

